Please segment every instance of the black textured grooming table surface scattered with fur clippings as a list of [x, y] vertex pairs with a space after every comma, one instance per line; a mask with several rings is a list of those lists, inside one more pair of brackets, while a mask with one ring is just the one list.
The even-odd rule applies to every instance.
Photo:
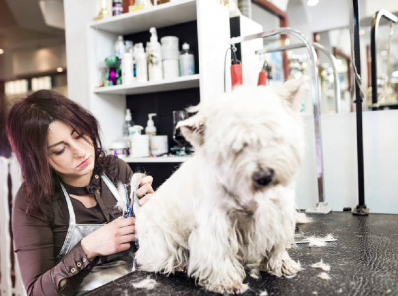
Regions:
[[[260, 272], [259, 279], [246, 277], [250, 289], [242, 295], [395, 295], [398, 296], [398, 215], [369, 214], [353, 216], [350, 212], [310, 215], [314, 222], [301, 225], [303, 236], [324, 237], [331, 233], [336, 242], [325, 247], [297, 245], [289, 254], [299, 260], [304, 270], [293, 278], [277, 278]], [[310, 267], [320, 260], [330, 265], [330, 280]], [[152, 290], [136, 289], [132, 283], [150, 276], [157, 281]], [[184, 273], [169, 277], [135, 271], [99, 287], [87, 296], [109, 295], [220, 295], [196, 286]]]

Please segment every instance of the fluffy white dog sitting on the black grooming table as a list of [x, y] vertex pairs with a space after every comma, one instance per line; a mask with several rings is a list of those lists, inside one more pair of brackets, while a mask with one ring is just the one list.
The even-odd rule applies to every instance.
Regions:
[[294, 245], [294, 177], [304, 150], [303, 84], [242, 86], [179, 124], [195, 155], [145, 206], [134, 202], [141, 270], [186, 270], [219, 293], [246, 291], [245, 268], [300, 270], [286, 249]]

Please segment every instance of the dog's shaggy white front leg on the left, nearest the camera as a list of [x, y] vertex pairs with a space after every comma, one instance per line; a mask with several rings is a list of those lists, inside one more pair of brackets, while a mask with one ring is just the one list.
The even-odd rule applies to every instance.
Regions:
[[195, 228], [189, 237], [188, 275], [199, 285], [218, 293], [243, 293], [245, 271], [237, 259], [238, 242], [226, 216]]

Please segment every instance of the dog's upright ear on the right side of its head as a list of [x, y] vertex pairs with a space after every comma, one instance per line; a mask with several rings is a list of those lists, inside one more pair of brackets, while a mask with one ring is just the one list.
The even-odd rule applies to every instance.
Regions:
[[283, 84], [273, 85], [272, 89], [285, 99], [293, 110], [300, 111], [304, 96], [309, 89], [308, 81], [308, 77], [303, 76], [298, 79], [290, 79]]

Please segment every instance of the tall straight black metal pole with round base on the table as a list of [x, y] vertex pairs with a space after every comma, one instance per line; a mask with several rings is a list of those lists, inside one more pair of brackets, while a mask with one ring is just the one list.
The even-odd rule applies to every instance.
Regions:
[[[354, 59], [358, 75], [361, 75], [361, 59], [359, 47], [359, 18], [358, 0], [353, 0], [353, 24], [354, 24]], [[358, 81], [355, 79], [355, 109], [357, 119], [357, 159], [358, 159], [358, 199], [359, 204], [352, 211], [353, 215], [368, 215], [369, 209], [365, 205], [364, 190], [364, 144], [362, 141], [362, 98]]]

